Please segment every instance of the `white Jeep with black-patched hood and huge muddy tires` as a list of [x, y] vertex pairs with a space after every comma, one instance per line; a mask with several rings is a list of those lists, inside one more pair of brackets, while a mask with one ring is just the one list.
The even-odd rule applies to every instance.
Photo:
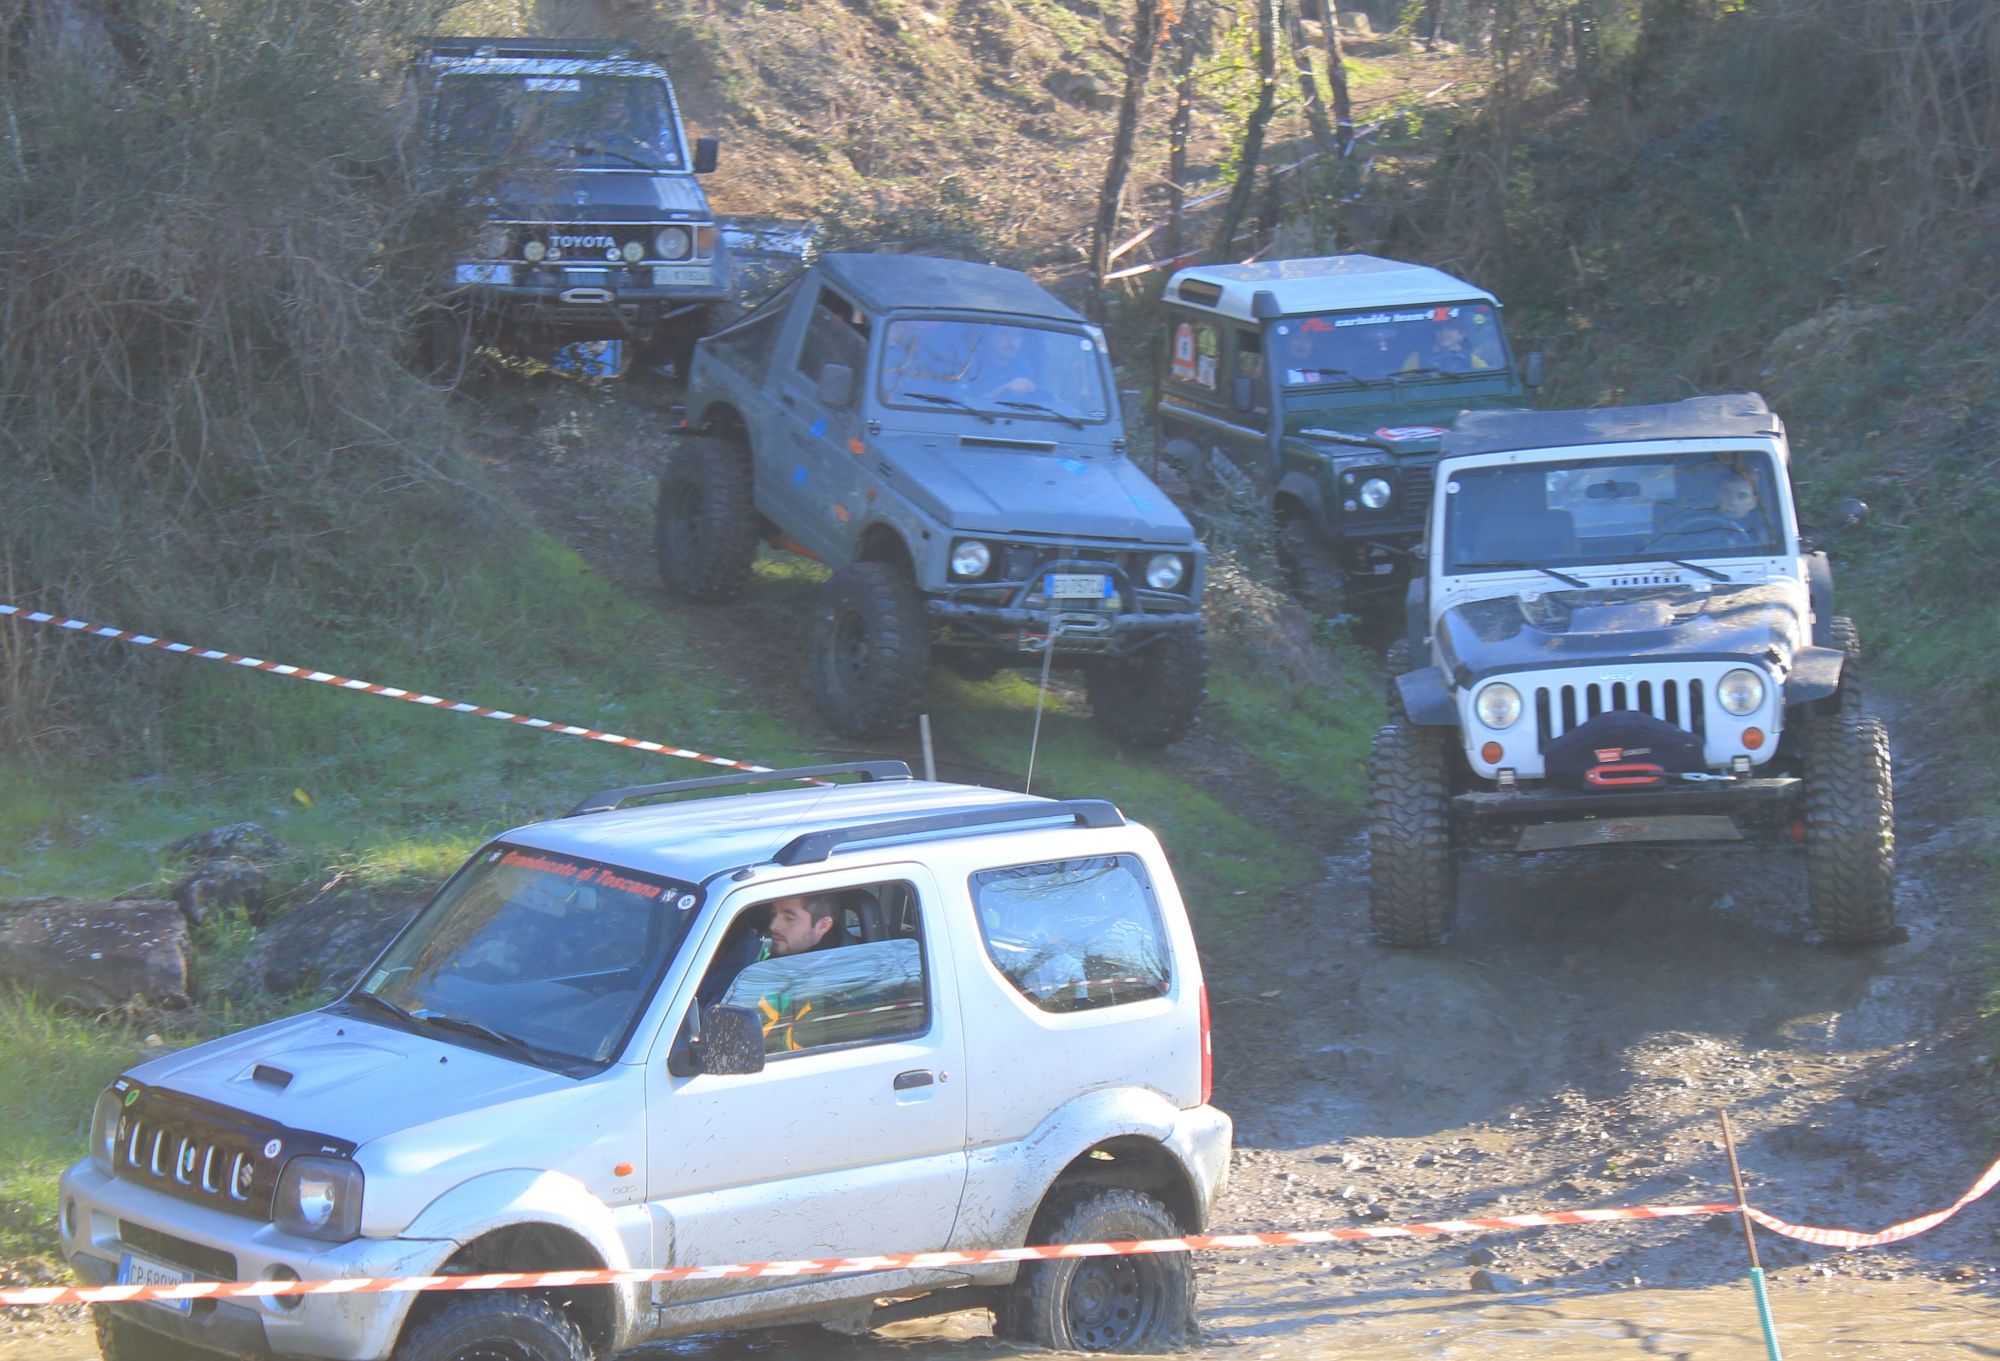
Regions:
[[1828, 943], [1896, 933], [1888, 735], [1764, 398], [1466, 412], [1438, 488], [1370, 769], [1378, 939], [1438, 945], [1470, 851], [1674, 845], [1798, 847]]

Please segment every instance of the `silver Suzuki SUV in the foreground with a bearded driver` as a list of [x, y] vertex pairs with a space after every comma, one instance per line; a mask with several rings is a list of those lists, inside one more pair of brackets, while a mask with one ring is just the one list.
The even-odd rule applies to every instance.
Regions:
[[[772, 955], [800, 895], [832, 925]], [[1186, 909], [1112, 805], [894, 761], [616, 789], [478, 851], [332, 1005], [120, 1077], [62, 1249], [102, 1285], [1174, 1237], [1228, 1167], [1208, 1091]], [[1168, 1253], [132, 1301], [98, 1337], [108, 1361], [578, 1361], [988, 1307], [1006, 1337], [1158, 1351], [1192, 1305]]]

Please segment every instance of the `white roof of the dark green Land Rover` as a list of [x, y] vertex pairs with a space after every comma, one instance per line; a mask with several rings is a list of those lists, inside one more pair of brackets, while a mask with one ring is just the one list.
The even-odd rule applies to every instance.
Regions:
[[1196, 264], [1174, 274], [1166, 286], [1170, 300], [1212, 308], [1240, 322], [1256, 320], [1252, 306], [1258, 292], [1270, 292], [1278, 300], [1280, 316], [1426, 302], [1498, 306], [1490, 292], [1444, 270], [1362, 254], [1262, 264]]

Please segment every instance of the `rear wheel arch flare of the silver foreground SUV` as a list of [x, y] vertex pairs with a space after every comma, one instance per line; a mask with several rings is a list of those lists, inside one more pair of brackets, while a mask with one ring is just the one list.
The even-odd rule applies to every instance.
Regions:
[[[1118, 1141], [1146, 1143], [1158, 1149], [1160, 1165], [1172, 1169], [1176, 1183], [1168, 1195], [1168, 1205], [1178, 1207], [1188, 1221], [1188, 1231], [1206, 1227], [1208, 1207], [1222, 1191], [1228, 1175], [1226, 1161], [1210, 1177], [1202, 1159], [1202, 1143], [1212, 1137], [1228, 1137], [1228, 1117], [1216, 1113], [1216, 1127], [1202, 1127], [1200, 1111], [1182, 1111], [1172, 1101], [1152, 1089], [1104, 1087], [1072, 1097], [1052, 1111], [1034, 1133], [1018, 1143], [998, 1143], [972, 1149], [966, 1167], [966, 1195], [958, 1211], [958, 1225], [952, 1229], [952, 1247], [962, 1243], [1028, 1243], [1028, 1231], [1056, 1185], [1064, 1169], [1088, 1155]], [[1020, 1197], [1020, 1187], [1042, 1187], [1034, 1201]], [[1004, 1263], [992, 1275], [994, 1281], [1014, 1277], [1018, 1263]]]

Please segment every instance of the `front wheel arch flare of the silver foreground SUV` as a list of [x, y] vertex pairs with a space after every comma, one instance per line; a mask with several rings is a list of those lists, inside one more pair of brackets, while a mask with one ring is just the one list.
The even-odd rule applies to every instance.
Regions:
[[[576, 1177], [554, 1171], [516, 1167], [484, 1173], [462, 1181], [412, 1219], [398, 1237], [440, 1239], [436, 1267], [444, 1267], [460, 1249], [502, 1229], [544, 1227], [580, 1239], [596, 1261], [566, 1263], [568, 1269], [622, 1271], [638, 1263], [618, 1233], [612, 1209], [590, 1193]], [[432, 1271], [436, 1271], [436, 1267]], [[550, 1267], [560, 1269], [560, 1267]], [[602, 1287], [610, 1303], [610, 1351], [630, 1347], [638, 1339], [638, 1319], [650, 1313], [648, 1285]]]

